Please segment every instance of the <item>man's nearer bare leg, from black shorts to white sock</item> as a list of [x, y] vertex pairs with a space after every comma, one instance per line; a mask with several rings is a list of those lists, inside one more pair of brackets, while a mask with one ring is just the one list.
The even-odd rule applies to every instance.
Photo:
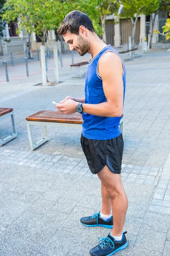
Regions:
[[127, 196], [125, 189], [123, 188], [121, 175], [114, 174], [107, 166], [105, 166], [102, 171], [98, 173], [98, 177], [102, 181], [102, 185], [105, 186], [108, 195], [111, 197], [114, 222], [111, 235], [121, 236], [128, 207]]

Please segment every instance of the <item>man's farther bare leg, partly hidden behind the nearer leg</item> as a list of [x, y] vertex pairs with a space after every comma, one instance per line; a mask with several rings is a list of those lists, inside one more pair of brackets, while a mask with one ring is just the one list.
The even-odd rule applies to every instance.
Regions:
[[111, 197], [108, 194], [105, 186], [102, 184], [102, 209], [101, 212], [104, 215], [111, 215], [111, 211], [112, 211], [112, 201], [111, 201]]

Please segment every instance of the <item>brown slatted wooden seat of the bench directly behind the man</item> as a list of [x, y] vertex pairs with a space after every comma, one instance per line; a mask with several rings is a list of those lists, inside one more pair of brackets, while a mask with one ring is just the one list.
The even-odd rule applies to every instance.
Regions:
[[59, 123], [72, 123], [72, 124], [82, 124], [82, 114], [74, 113], [71, 115], [63, 114], [59, 111], [40, 111], [34, 115], [28, 116], [27, 121], [37, 121], [37, 122], [59, 122]]

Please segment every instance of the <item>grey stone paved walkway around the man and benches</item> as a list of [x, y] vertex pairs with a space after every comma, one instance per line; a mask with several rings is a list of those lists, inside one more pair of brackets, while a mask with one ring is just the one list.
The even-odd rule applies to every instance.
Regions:
[[[169, 69], [169, 55], [167, 49], [154, 49], [125, 62], [122, 180], [129, 200], [124, 227], [129, 245], [115, 255], [169, 255], [170, 77], [163, 75], [165, 67]], [[31, 65], [36, 70], [36, 62]], [[82, 97], [84, 77], [71, 79], [69, 67], [63, 67], [62, 83], [38, 87], [32, 85], [40, 81], [41, 73], [17, 78], [23, 70], [11, 67], [16, 79], [0, 83], [0, 106], [14, 108], [18, 132], [0, 148], [0, 255], [88, 256], [97, 238], [109, 230], [79, 223], [80, 217], [101, 209], [100, 182], [82, 153], [81, 129], [51, 127], [50, 140], [31, 151], [25, 121], [42, 109], [55, 110], [52, 100]], [[48, 76], [53, 79], [53, 70]], [[10, 125], [10, 119], [0, 123], [0, 137], [10, 133]], [[35, 126], [34, 140], [42, 132]]]

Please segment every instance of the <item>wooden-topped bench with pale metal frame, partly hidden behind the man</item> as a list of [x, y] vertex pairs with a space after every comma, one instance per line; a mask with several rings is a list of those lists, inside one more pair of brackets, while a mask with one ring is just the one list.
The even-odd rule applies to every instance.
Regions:
[[[122, 115], [123, 117], [123, 115]], [[81, 127], [83, 123], [82, 114], [74, 113], [71, 115], [63, 114], [59, 111], [45, 111], [42, 110], [40, 112], [35, 113], [34, 115], [28, 116], [26, 118], [26, 124], [28, 129], [28, 138], [31, 150], [39, 147], [43, 143], [48, 140], [47, 134], [47, 126], [67, 126], [67, 127]], [[32, 134], [31, 134], [31, 125], [43, 125], [44, 126], [44, 133], [45, 136], [33, 143], [32, 141]], [[120, 122], [120, 129], [123, 134], [123, 118]]]

